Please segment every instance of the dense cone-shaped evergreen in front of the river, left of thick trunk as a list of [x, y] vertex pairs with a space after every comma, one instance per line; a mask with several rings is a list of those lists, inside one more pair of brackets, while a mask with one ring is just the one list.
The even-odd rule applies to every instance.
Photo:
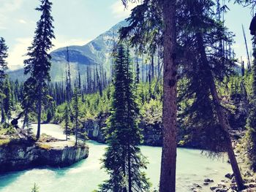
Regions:
[[114, 71], [113, 103], [105, 129], [108, 148], [103, 159], [110, 179], [101, 185], [100, 191], [148, 191], [148, 180], [141, 171], [146, 168], [146, 161], [138, 147], [141, 133], [135, 120], [138, 107], [133, 90], [134, 77], [129, 52], [123, 45], [117, 46]]

